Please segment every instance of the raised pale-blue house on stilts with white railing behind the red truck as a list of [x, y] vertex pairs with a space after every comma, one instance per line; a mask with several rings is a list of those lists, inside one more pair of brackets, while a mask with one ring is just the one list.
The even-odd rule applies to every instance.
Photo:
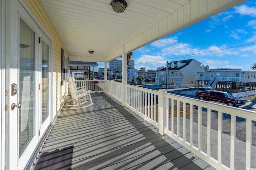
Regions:
[[234, 68], [214, 68], [208, 71], [198, 72], [196, 76], [196, 85], [199, 86], [220, 87], [223, 89], [241, 89], [245, 91], [247, 86], [249, 90], [254, 90], [256, 84], [256, 71], [245, 71]]

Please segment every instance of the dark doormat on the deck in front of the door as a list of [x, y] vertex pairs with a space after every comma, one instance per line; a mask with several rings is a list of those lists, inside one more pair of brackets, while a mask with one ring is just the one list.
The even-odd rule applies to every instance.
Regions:
[[35, 170], [70, 170], [74, 146], [44, 152], [40, 156]]

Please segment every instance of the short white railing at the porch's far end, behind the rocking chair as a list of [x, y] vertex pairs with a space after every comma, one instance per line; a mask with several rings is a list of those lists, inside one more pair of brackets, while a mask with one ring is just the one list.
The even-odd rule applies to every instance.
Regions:
[[104, 80], [75, 80], [76, 87], [86, 86], [91, 92], [104, 92]]

